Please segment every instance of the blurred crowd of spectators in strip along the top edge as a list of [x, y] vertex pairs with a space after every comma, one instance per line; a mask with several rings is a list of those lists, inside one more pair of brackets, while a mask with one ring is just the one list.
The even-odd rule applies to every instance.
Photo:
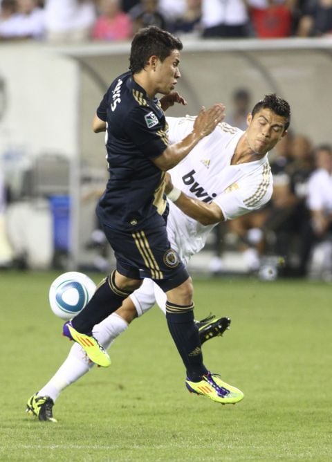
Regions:
[[332, 0], [0, 0], [0, 39], [131, 39], [144, 26], [194, 37], [322, 37]]

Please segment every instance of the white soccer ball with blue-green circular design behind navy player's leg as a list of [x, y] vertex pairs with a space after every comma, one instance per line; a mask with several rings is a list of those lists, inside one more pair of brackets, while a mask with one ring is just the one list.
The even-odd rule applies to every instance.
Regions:
[[95, 293], [95, 283], [82, 272], [64, 272], [53, 281], [48, 293], [50, 308], [63, 320], [78, 315]]

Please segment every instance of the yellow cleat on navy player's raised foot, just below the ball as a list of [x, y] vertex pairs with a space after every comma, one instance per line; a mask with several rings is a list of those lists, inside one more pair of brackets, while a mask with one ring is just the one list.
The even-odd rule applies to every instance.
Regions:
[[71, 325], [71, 321], [64, 324], [63, 335], [80, 344], [88, 358], [98, 366], [109, 367], [111, 364], [109, 353], [100, 345], [98, 340], [92, 335], [77, 332]]

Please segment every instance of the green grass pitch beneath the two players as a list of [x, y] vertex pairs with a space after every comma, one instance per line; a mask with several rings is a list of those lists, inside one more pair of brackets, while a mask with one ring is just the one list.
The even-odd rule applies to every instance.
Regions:
[[0, 272], [0, 461], [332, 460], [331, 285], [195, 279], [196, 317], [232, 318], [203, 346], [205, 364], [243, 401], [221, 406], [186, 391], [154, 308], [113, 344], [109, 369], [63, 392], [52, 424], [24, 410], [70, 347], [48, 307], [56, 275]]

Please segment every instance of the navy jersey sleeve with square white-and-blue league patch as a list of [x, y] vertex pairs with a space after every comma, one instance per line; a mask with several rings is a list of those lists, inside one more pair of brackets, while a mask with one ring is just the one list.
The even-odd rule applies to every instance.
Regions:
[[148, 158], [160, 156], [169, 145], [167, 129], [151, 107], [134, 108], [126, 118], [124, 130]]

